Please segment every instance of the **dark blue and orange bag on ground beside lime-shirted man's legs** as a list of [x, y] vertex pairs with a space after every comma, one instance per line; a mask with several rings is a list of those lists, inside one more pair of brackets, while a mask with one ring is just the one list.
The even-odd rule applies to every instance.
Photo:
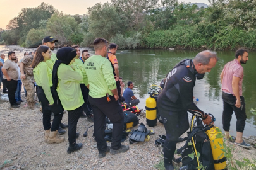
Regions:
[[124, 116], [124, 126], [123, 126], [124, 130], [138, 125], [138, 122], [139, 122], [138, 116], [131, 113], [131, 111], [123, 111], [123, 116]]

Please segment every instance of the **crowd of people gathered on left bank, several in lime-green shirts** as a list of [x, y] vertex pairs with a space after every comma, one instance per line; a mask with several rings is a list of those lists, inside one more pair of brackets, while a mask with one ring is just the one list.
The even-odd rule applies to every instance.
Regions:
[[[125, 84], [119, 77], [118, 60], [114, 43], [107, 45], [104, 38], [94, 41], [95, 55], [90, 57], [88, 50], [82, 51], [78, 46], [60, 48], [57, 54], [52, 53], [58, 40], [47, 36], [42, 40], [34, 55], [25, 55], [20, 67], [15, 64], [15, 52], [9, 52], [9, 59], [3, 65], [3, 83], [8, 89], [11, 107], [18, 108], [13, 94], [18, 84], [18, 73], [27, 91], [27, 103], [33, 109], [36, 94], [42, 105], [42, 123], [44, 126], [44, 142], [61, 143], [65, 139], [59, 133], [60, 127], [68, 127], [69, 147], [71, 153], [82, 148], [76, 143], [78, 119], [87, 117], [94, 122], [94, 134], [99, 150], [99, 157], [107, 152], [118, 154], [126, 152], [129, 147], [121, 145], [123, 133], [123, 110], [121, 103], [127, 101], [133, 106], [139, 103], [131, 89], [133, 83]], [[109, 52], [107, 52], [109, 48]], [[124, 96], [123, 96], [124, 94]], [[132, 101], [134, 102], [132, 102]], [[68, 125], [61, 123], [64, 110], [68, 112]], [[54, 115], [51, 124], [51, 115]], [[106, 117], [113, 123], [113, 142], [107, 147], [104, 139]]]

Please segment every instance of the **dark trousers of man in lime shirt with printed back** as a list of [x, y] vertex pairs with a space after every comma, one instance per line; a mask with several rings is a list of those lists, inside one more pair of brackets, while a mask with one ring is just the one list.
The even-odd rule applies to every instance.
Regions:
[[109, 96], [111, 102], [106, 97], [92, 98], [89, 96], [90, 104], [94, 110], [94, 136], [97, 142], [99, 153], [107, 150], [107, 142], [104, 139], [106, 129], [106, 116], [113, 123], [111, 148], [118, 150], [121, 147], [123, 133], [123, 110], [119, 101], [114, 96]]

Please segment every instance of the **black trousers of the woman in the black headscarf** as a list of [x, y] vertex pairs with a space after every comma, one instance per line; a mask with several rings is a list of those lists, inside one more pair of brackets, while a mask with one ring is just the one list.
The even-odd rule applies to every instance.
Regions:
[[76, 142], [77, 122], [82, 113], [82, 107], [75, 110], [68, 110], [68, 142], [73, 144]]

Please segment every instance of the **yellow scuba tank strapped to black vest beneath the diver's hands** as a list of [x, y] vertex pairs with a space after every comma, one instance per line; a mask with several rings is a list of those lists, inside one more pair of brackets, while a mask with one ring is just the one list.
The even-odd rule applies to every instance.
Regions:
[[212, 156], [214, 159], [214, 169], [221, 170], [226, 169], [226, 157], [224, 157], [224, 152], [221, 149], [223, 147], [223, 138], [216, 138], [217, 133], [220, 130], [217, 130], [217, 127], [212, 127], [210, 130], [207, 130], [205, 133], [208, 135], [210, 140], [210, 146], [212, 148]]

